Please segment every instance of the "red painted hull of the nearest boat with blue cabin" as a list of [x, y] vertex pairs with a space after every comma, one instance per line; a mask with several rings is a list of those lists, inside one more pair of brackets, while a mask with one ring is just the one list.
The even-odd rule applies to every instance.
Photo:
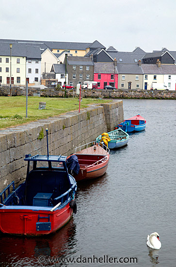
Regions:
[[[37, 231], [36, 223], [38, 216], [48, 217], [51, 222], [51, 229], [49, 231]], [[25, 234], [25, 235], [43, 235], [50, 234], [61, 227], [63, 227], [71, 218], [72, 209], [69, 203], [62, 209], [57, 209], [53, 212], [45, 210], [32, 209], [0, 209], [0, 231], [8, 234]], [[48, 218], [40, 219], [40, 222], [48, 222]]]

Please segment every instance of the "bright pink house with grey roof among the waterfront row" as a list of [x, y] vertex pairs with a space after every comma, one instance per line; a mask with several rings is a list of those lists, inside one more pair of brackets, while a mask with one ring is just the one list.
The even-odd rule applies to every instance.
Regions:
[[94, 63], [94, 81], [98, 83], [98, 88], [103, 89], [106, 85], [117, 88], [118, 74], [116, 60], [113, 63]]

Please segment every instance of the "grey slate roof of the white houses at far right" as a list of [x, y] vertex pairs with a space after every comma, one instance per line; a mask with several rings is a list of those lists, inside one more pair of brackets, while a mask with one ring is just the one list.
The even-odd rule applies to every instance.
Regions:
[[142, 64], [144, 74], [169, 74], [176, 75], [176, 65]]

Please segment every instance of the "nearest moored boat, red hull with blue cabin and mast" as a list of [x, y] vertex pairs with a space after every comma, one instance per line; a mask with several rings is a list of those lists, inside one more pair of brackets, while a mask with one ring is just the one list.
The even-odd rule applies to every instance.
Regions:
[[[48, 130], [47, 149], [48, 149]], [[0, 231], [43, 235], [57, 231], [76, 213], [77, 184], [68, 174], [66, 156], [26, 155], [27, 176], [0, 193]]]

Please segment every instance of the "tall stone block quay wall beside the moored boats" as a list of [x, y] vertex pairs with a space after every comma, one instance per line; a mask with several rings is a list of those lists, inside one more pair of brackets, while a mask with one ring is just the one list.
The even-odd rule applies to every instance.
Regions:
[[[25, 154], [70, 155], [76, 147], [94, 141], [99, 134], [114, 130], [124, 119], [123, 101], [90, 105], [79, 112], [40, 119], [0, 130], [0, 191], [12, 181], [21, 183], [26, 176]], [[39, 137], [43, 138], [40, 140]]]

